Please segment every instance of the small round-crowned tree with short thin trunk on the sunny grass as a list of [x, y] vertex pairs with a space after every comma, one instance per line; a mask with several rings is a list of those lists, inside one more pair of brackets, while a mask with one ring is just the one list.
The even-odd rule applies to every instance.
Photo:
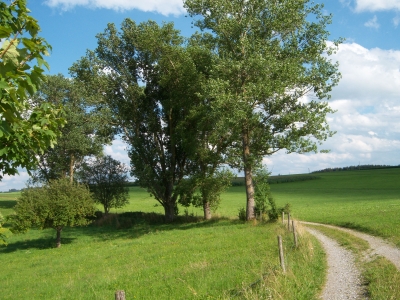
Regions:
[[95, 206], [89, 189], [68, 179], [53, 180], [43, 187], [25, 189], [10, 219], [12, 232], [26, 232], [29, 228], [54, 228], [57, 231], [57, 248], [61, 246], [64, 227], [89, 224]]

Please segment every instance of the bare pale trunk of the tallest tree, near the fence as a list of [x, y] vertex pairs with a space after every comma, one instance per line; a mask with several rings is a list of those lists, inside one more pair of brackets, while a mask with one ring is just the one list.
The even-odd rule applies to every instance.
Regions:
[[253, 185], [253, 174], [251, 169], [252, 163], [251, 161], [249, 161], [250, 160], [249, 134], [245, 130], [243, 130], [242, 133], [242, 141], [243, 141], [244, 178], [246, 184], [246, 197], [247, 197], [246, 219], [252, 220], [255, 218], [254, 185]]

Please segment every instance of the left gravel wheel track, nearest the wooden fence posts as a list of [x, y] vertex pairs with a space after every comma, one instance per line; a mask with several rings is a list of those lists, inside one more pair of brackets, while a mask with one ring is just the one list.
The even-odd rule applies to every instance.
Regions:
[[321, 243], [328, 260], [328, 276], [322, 291], [324, 300], [366, 299], [361, 273], [354, 263], [353, 254], [318, 230], [306, 228]]

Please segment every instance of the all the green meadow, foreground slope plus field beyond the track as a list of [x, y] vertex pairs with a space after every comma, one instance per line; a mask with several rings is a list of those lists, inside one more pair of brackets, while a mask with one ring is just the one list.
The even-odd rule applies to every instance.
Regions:
[[[400, 245], [400, 168], [315, 176], [271, 184], [278, 206], [290, 203], [297, 219], [352, 227]], [[12, 213], [17, 197], [0, 194], [3, 215]], [[10, 237], [0, 248], [0, 298], [110, 299], [117, 289], [127, 299], [318, 296], [325, 269], [319, 244], [302, 233], [295, 249], [281, 222], [240, 222], [243, 186], [226, 191], [207, 222], [201, 209], [180, 207], [178, 221], [164, 224], [155, 214], [162, 207], [145, 190], [131, 187], [130, 199], [113, 211], [119, 219], [64, 229], [60, 249], [51, 229]], [[278, 234], [284, 237], [286, 274], [279, 267]]]

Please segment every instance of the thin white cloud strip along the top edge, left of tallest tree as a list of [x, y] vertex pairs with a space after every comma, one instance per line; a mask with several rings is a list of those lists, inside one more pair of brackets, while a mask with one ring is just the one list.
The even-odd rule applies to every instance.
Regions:
[[60, 7], [63, 10], [70, 10], [75, 6], [85, 6], [116, 11], [138, 9], [162, 15], [180, 15], [185, 12], [182, 0], [46, 0], [44, 3], [50, 7]]

